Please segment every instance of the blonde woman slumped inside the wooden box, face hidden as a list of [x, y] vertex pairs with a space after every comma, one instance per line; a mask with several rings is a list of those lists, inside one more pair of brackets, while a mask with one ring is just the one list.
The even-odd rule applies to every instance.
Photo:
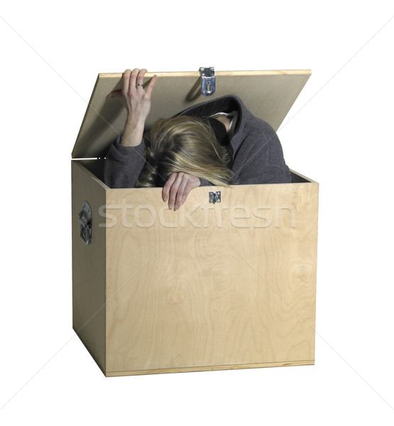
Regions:
[[124, 132], [109, 148], [104, 180], [109, 187], [160, 187], [177, 210], [200, 185], [291, 182], [272, 127], [251, 114], [238, 97], [225, 96], [160, 119], [143, 138], [155, 75], [143, 89], [146, 70], [126, 70], [111, 97], [127, 110]]

